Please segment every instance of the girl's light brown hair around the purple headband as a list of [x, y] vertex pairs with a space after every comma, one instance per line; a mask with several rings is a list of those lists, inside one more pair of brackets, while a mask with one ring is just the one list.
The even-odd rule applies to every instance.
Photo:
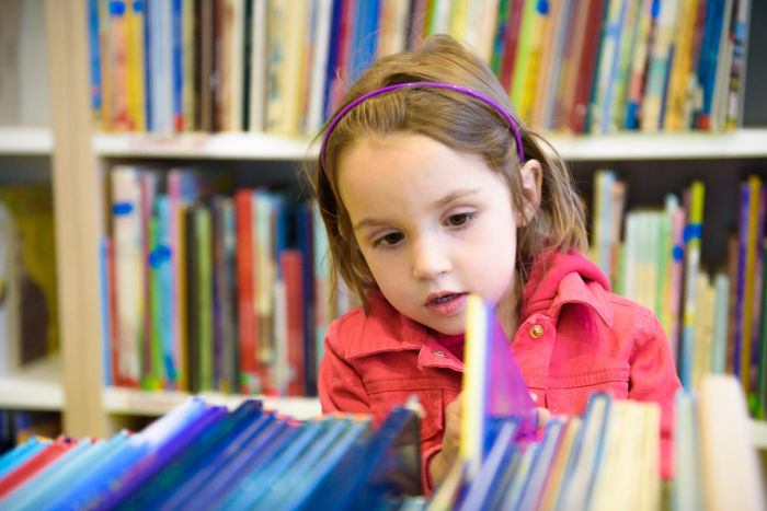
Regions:
[[[583, 207], [564, 161], [542, 137], [525, 127], [488, 66], [453, 37], [433, 35], [416, 51], [378, 59], [352, 85], [336, 113], [377, 89], [425, 81], [461, 85], [496, 102], [517, 125], [525, 160], [535, 159], [541, 164], [540, 207], [533, 219], [518, 230], [517, 282], [524, 282], [524, 267], [541, 252], [585, 249]], [[327, 128], [325, 124], [318, 140]], [[325, 149], [327, 172], [322, 171], [318, 159], [312, 184], [328, 232], [333, 295], [337, 291], [334, 280], [337, 270], [366, 310], [365, 293], [378, 287], [357, 245], [348, 212], [341, 201], [336, 164], [341, 153], [356, 141], [394, 132], [424, 135], [456, 151], [480, 155], [493, 172], [505, 178], [516, 210], [522, 212], [524, 208], [520, 163], [514, 133], [494, 108], [460, 92], [426, 88], [404, 88], [365, 100], [333, 129]]]

